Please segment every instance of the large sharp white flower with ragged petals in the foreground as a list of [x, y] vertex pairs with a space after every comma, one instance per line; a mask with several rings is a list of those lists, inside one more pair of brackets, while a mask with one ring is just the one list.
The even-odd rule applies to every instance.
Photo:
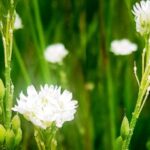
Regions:
[[22, 114], [34, 125], [43, 129], [50, 127], [52, 122], [58, 128], [62, 127], [65, 121], [74, 119], [77, 101], [72, 100], [72, 93], [57, 86], [41, 86], [36, 91], [33, 85], [27, 88], [27, 96], [22, 92], [17, 100], [17, 105], [12, 110]]

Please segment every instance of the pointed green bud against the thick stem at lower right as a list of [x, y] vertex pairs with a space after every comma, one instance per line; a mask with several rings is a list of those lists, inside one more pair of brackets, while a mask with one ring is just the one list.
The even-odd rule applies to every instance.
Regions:
[[123, 140], [126, 139], [126, 137], [129, 134], [129, 121], [128, 118], [126, 116], [124, 116], [122, 124], [121, 124], [121, 130], [120, 130], [120, 135], [122, 137]]

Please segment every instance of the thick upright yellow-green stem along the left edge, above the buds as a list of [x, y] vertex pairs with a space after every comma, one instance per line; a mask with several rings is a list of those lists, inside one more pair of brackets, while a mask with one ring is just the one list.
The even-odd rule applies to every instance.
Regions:
[[13, 23], [14, 23], [14, 12], [8, 10], [6, 20], [4, 20], [5, 27], [2, 30], [2, 39], [4, 46], [5, 55], [5, 127], [10, 127], [11, 121], [11, 108], [13, 103], [13, 85], [11, 83], [11, 54], [12, 54], [12, 43], [13, 43]]

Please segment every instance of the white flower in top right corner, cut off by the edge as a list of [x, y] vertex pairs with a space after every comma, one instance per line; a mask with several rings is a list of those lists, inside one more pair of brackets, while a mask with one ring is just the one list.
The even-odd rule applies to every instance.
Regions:
[[142, 0], [133, 6], [135, 15], [136, 30], [141, 35], [150, 34], [150, 0]]

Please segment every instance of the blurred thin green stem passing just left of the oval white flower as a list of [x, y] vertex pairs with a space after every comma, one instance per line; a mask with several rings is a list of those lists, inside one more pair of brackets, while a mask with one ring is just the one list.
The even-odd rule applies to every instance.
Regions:
[[[106, 21], [106, 50], [109, 50], [111, 37], [112, 37], [112, 23], [113, 23], [113, 16], [114, 16], [114, 6], [116, 0], [113, 0], [110, 3], [106, 2], [108, 5], [109, 10], [107, 11], [107, 21]], [[108, 79], [108, 107], [109, 107], [109, 119], [110, 119], [110, 136], [111, 136], [111, 149], [115, 150], [115, 137], [116, 137], [116, 126], [115, 126], [115, 98], [114, 98], [114, 86], [113, 86], [113, 79], [111, 76], [111, 59], [108, 54], [108, 65], [107, 65], [107, 79]]]

